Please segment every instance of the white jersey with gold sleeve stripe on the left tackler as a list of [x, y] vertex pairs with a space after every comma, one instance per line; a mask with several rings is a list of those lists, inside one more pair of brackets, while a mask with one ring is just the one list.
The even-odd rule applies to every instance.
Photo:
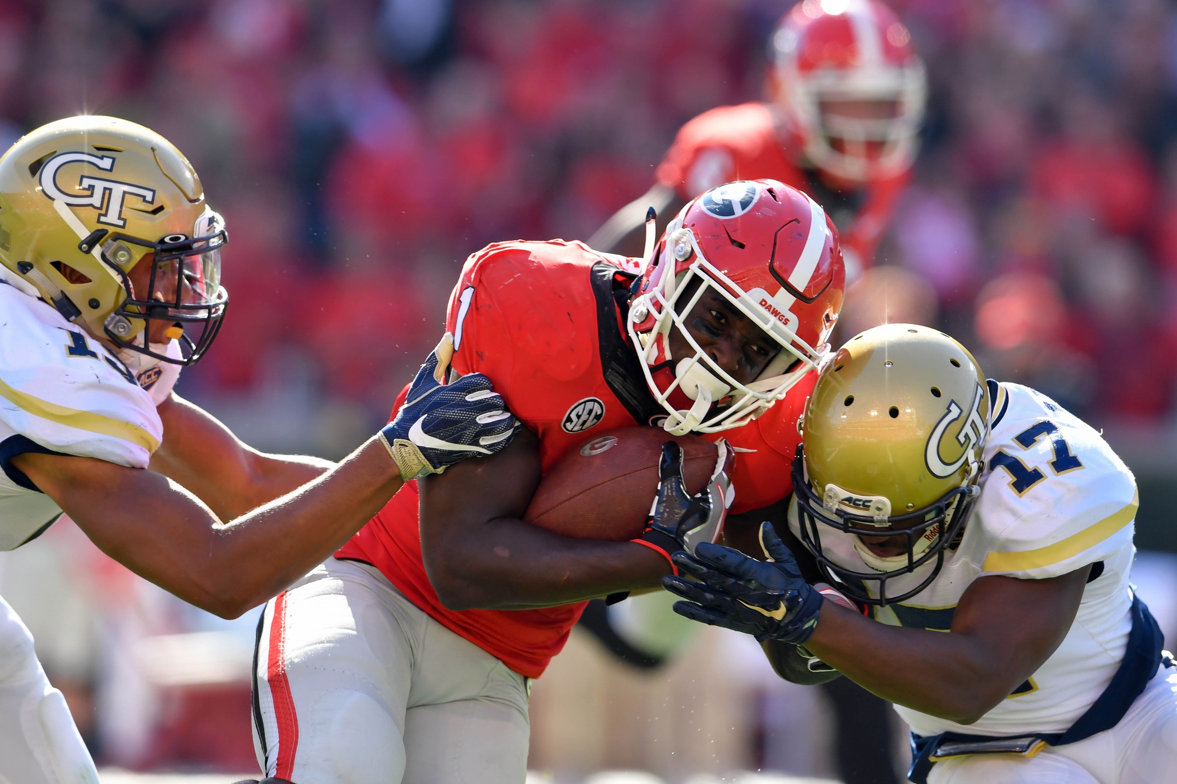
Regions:
[[[171, 393], [179, 366], [127, 351], [135, 362], [128, 368], [55, 308], [18, 288], [22, 281], [13, 282], [14, 275], [4, 273], [0, 550], [12, 550], [61, 514], [13, 465], [12, 457], [49, 451], [147, 468], [164, 431], [155, 406]], [[178, 349], [175, 341], [168, 348]], [[140, 356], [144, 362], [138, 361]]]

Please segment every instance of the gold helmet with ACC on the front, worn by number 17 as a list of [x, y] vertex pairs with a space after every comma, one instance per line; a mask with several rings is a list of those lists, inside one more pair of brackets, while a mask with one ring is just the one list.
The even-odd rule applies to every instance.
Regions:
[[[800, 538], [831, 582], [886, 605], [936, 578], [980, 492], [989, 409], [977, 361], [936, 329], [885, 324], [838, 349], [813, 388], [793, 462]], [[833, 563], [822, 527], [853, 534], [871, 571]], [[920, 585], [887, 595], [887, 579], [933, 558]]]

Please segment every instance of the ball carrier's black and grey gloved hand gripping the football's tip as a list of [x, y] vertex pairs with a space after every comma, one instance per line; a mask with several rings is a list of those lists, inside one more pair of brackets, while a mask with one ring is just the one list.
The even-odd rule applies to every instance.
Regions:
[[[732, 502], [727, 471], [736, 461], [736, 453], [726, 441], [716, 443], [719, 457], [707, 487], [698, 495], [687, 495], [683, 478], [683, 448], [673, 441], [663, 444], [658, 464], [658, 495], [646, 521], [641, 541], [661, 550], [666, 557], [674, 552], [694, 552], [700, 544], [719, 538], [724, 520]], [[672, 562], [673, 563], [673, 562]]]

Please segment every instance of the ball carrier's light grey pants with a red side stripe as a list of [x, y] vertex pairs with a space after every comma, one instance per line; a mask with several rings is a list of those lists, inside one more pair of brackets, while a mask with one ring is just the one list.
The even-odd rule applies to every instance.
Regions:
[[258, 762], [295, 784], [523, 784], [527, 685], [374, 567], [331, 558], [262, 615]]

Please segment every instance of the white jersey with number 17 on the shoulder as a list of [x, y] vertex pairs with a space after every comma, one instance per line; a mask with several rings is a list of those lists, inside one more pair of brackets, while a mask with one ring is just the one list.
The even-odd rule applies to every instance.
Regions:
[[[962, 594], [978, 577], [1057, 577], [1103, 563], [1088, 583], [1063, 643], [1029, 681], [977, 723], [957, 724], [896, 705], [917, 735], [945, 731], [1009, 736], [1065, 731], [1103, 692], [1119, 666], [1132, 622], [1128, 576], [1132, 565], [1137, 495], [1132, 473], [1090, 425], [1045, 395], [990, 382], [991, 435], [980, 497], [959, 547], [946, 551], [940, 574], [923, 591], [876, 609], [883, 623], [947, 631]], [[799, 535], [796, 503], [790, 527]], [[870, 571], [852, 535], [822, 527], [831, 561]], [[923, 582], [935, 559], [887, 581], [899, 595]]]

